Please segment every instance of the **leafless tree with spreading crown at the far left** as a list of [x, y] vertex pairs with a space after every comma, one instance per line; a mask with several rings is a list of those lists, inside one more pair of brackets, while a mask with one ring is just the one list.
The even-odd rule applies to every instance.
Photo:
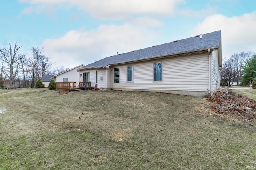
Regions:
[[10, 86], [14, 86], [15, 77], [18, 75], [19, 69], [19, 61], [20, 58], [24, 57], [19, 52], [22, 45], [18, 45], [17, 42], [12, 47], [11, 43], [9, 43], [9, 47], [4, 47], [0, 49], [0, 54], [2, 56], [2, 61], [7, 64], [8, 68], [6, 68], [6, 76], [8, 76], [10, 80]]

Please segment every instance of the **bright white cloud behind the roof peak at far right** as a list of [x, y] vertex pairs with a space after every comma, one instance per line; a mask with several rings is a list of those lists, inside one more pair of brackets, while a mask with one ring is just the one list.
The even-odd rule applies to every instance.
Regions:
[[256, 50], [256, 11], [242, 16], [208, 16], [192, 31], [192, 35], [222, 31], [222, 57], [241, 51]]

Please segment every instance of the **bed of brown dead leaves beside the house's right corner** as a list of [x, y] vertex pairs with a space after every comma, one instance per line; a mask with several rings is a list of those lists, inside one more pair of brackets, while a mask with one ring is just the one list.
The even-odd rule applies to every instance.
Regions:
[[228, 115], [243, 121], [254, 121], [256, 118], [256, 101], [226, 89], [219, 89], [208, 97], [208, 107], [217, 115]]

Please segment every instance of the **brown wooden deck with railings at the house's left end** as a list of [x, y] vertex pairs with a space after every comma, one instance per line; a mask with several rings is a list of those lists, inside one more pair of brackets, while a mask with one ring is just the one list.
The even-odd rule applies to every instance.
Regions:
[[77, 85], [76, 82], [56, 82], [56, 90], [64, 90], [64, 91], [75, 91], [81, 90], [81, 87], [84, 90], [91, 90], [91, 82], [79, 82]]

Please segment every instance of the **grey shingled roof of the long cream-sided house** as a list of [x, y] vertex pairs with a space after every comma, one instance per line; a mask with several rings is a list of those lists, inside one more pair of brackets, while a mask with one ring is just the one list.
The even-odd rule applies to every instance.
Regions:
[[78, 70], [89, 68], [106, 67], [110, 64], [126, 63], [161, 57], [166, 55], [178, 55], [182, 53], [190, 53], [207, 49], [219, 48], [219, 66], [221, 67], [221, 31], [215, 31], [203, 35], [198, 35], [182, 40], [172, 41], [162, 45], [156, 45], [145, 49], [134, 50], [128, 53], [122, 53], [110, 57], [106, 57], [94, 63], [88, 64]]

